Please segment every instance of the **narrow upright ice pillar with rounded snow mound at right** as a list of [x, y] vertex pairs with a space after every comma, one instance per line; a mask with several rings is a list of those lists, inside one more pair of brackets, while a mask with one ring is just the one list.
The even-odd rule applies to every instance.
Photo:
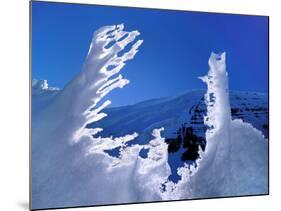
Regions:
[[268, 140], [251, 124], [231, 120], [226, 54], [212, 53], [205, 102], [207, 146], [198, 167], [178, 169], [181, 180], [169, 181], [166, 199], [210, 198], [268, 193]]

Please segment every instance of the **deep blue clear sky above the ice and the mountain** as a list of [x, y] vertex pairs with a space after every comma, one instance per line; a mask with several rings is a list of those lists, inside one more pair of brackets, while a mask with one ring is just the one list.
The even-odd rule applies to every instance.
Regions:
[[231, 90], [268, 92], [268, 19], [170, 10], [32, 3], [32, 78], [65, 86], [78, 72], [93, 32], [124, 23], [143, 45], [121, 71], [130, 80], [112, 106], [205, 88], [212, 51], [227, 53]]

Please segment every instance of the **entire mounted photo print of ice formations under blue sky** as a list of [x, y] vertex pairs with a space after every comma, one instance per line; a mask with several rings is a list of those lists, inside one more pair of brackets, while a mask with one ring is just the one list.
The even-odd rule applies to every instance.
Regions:
[[30, 2], [31, 210], [268, 194], [268, 16]]

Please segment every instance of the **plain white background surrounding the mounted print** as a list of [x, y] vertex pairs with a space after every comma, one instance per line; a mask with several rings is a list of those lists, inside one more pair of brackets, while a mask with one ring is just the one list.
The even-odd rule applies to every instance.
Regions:
[[[68, 210], [278, 210], [280, 209], [280, 6], [274, 0], [68, 0], [68, 2], [166, 8], [270, 16], [270, 196], [209, 199]], [[0, 7], [0, 196], [1, 210], [28, 206], [29, 2], [10, 0]], [[182, 26], [184, 27], [184, 26]], [[243, 77], [243, 76], [241, 76]], [[280, 130], [280, 129], [279, 129]]]

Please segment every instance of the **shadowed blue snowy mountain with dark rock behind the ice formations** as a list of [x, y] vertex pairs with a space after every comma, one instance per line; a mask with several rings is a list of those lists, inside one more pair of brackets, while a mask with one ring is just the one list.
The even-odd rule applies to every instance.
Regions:
[[[87, 127], [101, 127], [104, 130], [101, 136], [122, 136], [136, 131], [139, 134], [131, 143], [147, 144], [151, 138], [153, 128], [164, 127], [162, 132], [169, 144], [169, 164], [172, 170], [170, 179], [177, 181], [177, 168], [190, 162], [199, 156], [198, 147], [205, 149], [204, 116], [206, 104], [204, 102], [205, 90], [191, 90], [174, 97], [166, 97], [143, 101], [134, 105], [112, 107], [105, 109], [107, 118], [90, 124]], [[268, 138], [268, 95], [257, 92], [230, 92], [230, 105], [232, 119], [242, 119], [251, 123], [255, 128], [263, 132]], [[188, 154], [192, 150], [190, 145], [190, 130], [194, 135], [195, 148], [192, 156]], [[189, 132], [187, 132], [189, 131]], [[185, 134], [184, 134], [185, 133]], [[186, 135], [186, 133], [189, 133]], [[196, 151], [196, 152], [195, 152]], [[117, 156], [119, 149], [110, 150], [110, 155]], [[194, 159], [196, 160], [196, 159]], [[194, 161], [193, 160], [193, 161]]]

